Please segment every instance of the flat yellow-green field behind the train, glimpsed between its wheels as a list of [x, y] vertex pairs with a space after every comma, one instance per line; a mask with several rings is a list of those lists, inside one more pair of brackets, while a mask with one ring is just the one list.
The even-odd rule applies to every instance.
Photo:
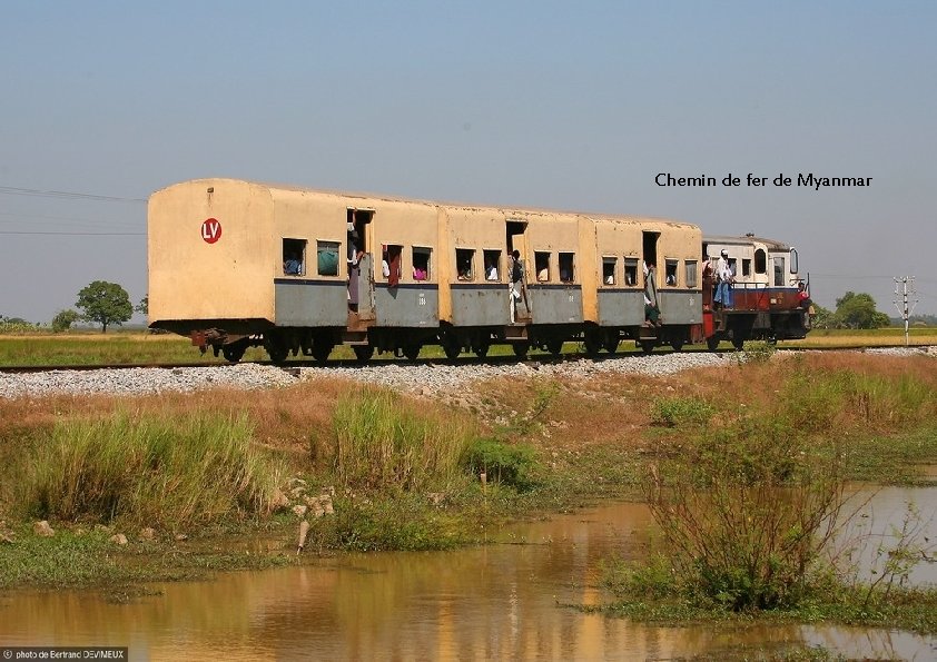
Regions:
[[[835, 348], [835, 347], [882, 347], [904, 345], [905, 333], [900, 328], [874, 330], [817, 329], [803, 340], [787, 340], [779, 347], [795, 348]], [[937, 345], [937, 329], [910, 329], [909, 345]], [[731, 347], [723, 343], [722, 347]], [[576, 343], [566, 343], [564, 350], [581, 349]], [[684, 350], [704, 350], [704, 345], [687, 346]], [[619, 352], [634, 352], [633, 343], [622, 343]], [[665, 348], [658, 352], [668, 350]], [[507, 346], [493, 346], [490, 355], [511, 355]], [[536, 350], [531, 355], [541, 354]], [[331, 358], [352, 358], [348, 347], [336, 347]], [[442, 358], [440, 347], [424, 347], [423, 358]], [[299, 357], [308, 358], [308, 357]], [[267, 360], [267, 354], [259, 347], [247, 350], [244, 360]], [[375, 355], [375, 360], [393, 359], [389, 354]], [[3, 366], [67, 366], [97, 364], [161, 364], [161, 363], [205, 363], [206, 365], [227, 363], [223, 357], [215, 357], [210, 352], [200, 354], [188, 338], [171, 334], [150, 334], [145, 330], [118, 330], [115, 333], [67, 333], [0, 335], [0, 367]]]

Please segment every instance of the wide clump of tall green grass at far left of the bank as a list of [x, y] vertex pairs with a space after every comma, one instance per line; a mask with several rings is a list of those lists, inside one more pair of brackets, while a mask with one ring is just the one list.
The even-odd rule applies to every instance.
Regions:
[[47, 518], [154, 525], [265, 512], [282, 472], [251, 438], [246, 416], [58, 423], [24, 472], [21, 503]]

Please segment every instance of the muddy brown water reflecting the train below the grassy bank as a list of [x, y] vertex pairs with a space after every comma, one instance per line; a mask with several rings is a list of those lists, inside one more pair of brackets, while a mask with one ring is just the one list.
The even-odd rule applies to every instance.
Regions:
[[[906, 497], [935, 496], [913, 492], [886, 490], [874, 503], [903, 514]], [[223, 574], [159, 585], [160, 594], [131, 604], [76, 592], [8, 594], [0, 649], [119, 645], [131, 660], [633, 660], [806, 642], [848, 656], [937, 655], [935, 638], [899, 632], [658, 628], [564, 606], [606, 597], [594, 582], [600, 560], [639, 557], [648, 526], [645, 507], [617, 504], [514, 526], [484, 547]]]

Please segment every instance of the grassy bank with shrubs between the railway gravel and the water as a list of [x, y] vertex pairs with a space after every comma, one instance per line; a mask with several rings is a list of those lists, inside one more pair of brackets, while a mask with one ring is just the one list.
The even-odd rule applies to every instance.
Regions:
[[[0, 401], [0, 463], [21, 467], [0, 483], [0, 535], [14, 541], [0, 543], [0, 587], [119, 594], [314, 553], [472, 544], [511, 518], [640, 497], [651, 465], [720, 431], [776, 441], [797, 431], [802, 449], [832, 433], [848, 457], [844, 478], [926, 482], [935, 387], [933, 358], [842, 354], [653, 378], [505, 379], [461, 393], [458, 408], [325, 379], [258, 393]], [[205, 496], [223, 505], [193, 506], [203, 487], [221, 488]], [[326, 503], [332, 513], [314, 517]], [[296, 506], [312, 524], [302, 556]], [[39, 517], [55, 536], [32, 533]], [[117, 533], [127, 545], [111, 542]], [[257, 537], [276, 541], [274, 551], [257, 553], [247, 542]], [[632, 614], [637, 603], [650, 604], [623, 597], [615, 609]], [[691, 612], [681, 609], [668, 613]], [[822, 614], [842, 619], [830, 606]]]

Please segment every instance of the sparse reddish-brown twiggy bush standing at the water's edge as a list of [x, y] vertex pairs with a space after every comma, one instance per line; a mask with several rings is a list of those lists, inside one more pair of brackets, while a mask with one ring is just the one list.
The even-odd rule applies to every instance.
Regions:
[[701, 436], [645, 484], [678, 584], [740, 611], [796, 605], [844, 501], [844, 454], [777, 423]]

